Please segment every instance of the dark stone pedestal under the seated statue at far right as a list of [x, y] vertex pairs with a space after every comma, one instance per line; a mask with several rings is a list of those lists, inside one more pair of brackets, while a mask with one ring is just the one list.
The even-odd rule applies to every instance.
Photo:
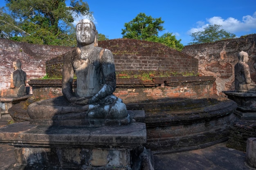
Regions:
[[256, 93], [252, 91], [222, 91], [229, 99], [237, 103], [234, 112], [240, 119], [256, 120]]

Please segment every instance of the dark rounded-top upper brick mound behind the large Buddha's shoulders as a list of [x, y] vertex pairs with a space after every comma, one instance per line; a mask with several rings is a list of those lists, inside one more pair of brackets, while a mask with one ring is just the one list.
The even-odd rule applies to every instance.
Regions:
[[[156, 42], [134, 39], [114, 39], [99, 42], [99, 46], [112, 51], [116, 72], [170, 71], [194, 74], [198, 60], [190, 55]], [[58, 77], [62, 71], [62, 56], [46, 62], [47, 74]]]

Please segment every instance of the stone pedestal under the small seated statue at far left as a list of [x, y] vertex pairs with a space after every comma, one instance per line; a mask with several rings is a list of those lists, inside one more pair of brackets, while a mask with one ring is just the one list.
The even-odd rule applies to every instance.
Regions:
[[27, 100], [31, 95], [25, 95], [21, 97], [0, 97], [0, 107], [2, 108], [0, 118], [9, 119], [11, 116], [8, 114], [8, 109], [14, 104], [18, 104], [22, 101]]

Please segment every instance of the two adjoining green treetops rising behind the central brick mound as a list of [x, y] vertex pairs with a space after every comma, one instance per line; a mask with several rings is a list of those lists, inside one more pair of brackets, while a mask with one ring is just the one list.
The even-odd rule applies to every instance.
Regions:
[[158, 35], [159, 31], [164, 30], [163, 23], [161, 17], [153, 18], [145, 13], [139, 13], [132, 21], [124, 24], [125, 28], [122, 29], [121, 34], [123, 38], [159, 42], [181, 51], [184, 46], [180, 43], [181, 40], [176, 39], [175, 35], [172, 33]]

